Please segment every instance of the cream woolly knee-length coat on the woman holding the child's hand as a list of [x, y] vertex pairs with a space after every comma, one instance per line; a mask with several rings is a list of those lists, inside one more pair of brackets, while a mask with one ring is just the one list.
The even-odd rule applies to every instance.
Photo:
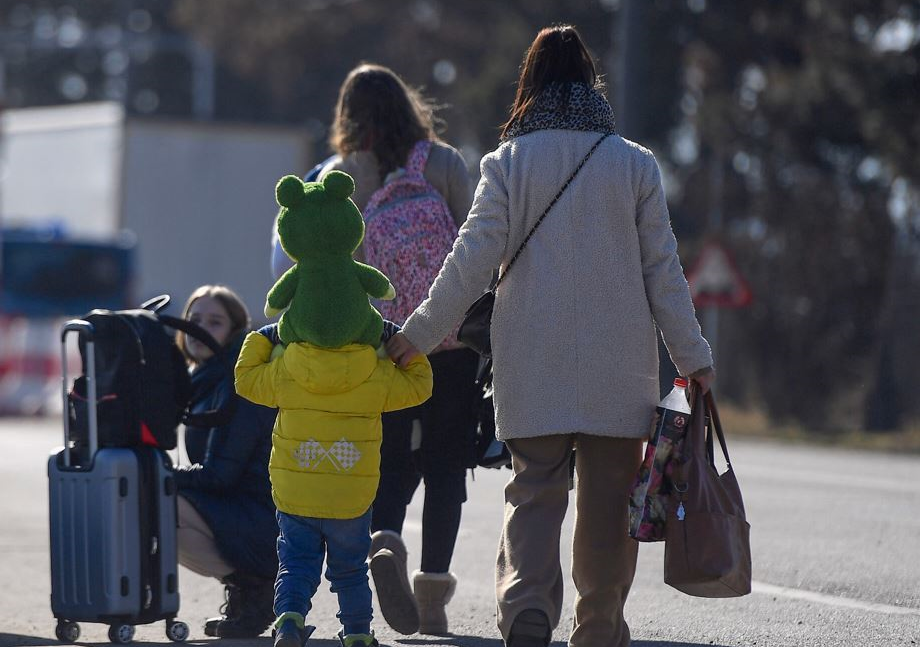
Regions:
[[[599, 137], [539, 130], [482, 159], [469, 217], [403, 328], [419, 350], [434, 348], [488, 288], [493, 269], [504, 269]], [[712, 365], [658, 164], [647, 149], [612, 135], [498, 287], [498, 438], [647, 435], [659, 399], [656, 325], [681, 375]]]

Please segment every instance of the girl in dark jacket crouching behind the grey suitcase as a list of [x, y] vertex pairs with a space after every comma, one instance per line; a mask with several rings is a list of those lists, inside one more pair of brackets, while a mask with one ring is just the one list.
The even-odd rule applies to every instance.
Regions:
[[191, 465], [177, 468], [179, 563], [220, 580], [226, 603], [204, 632], [219, 638], [255, 638], [275, 619], [273, 584], [278, 571], [275, 505], [268, 481], [268, 455], [275, 410], [240, 398], [233, 367], [249, 328], [249, 313], [229, 288], [203, 285], [182, 314], [221, 346], [214, 354], [193, 337], [177, 333], [192, 378], [185, 453]]

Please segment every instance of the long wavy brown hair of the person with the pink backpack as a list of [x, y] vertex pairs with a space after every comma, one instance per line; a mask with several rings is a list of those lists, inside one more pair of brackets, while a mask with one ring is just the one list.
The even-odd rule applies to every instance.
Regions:
[[342, 157], [373, 152], [382, 180], [406, 163], [417, 141], [438, 140], [435, 109], [393, 70], [363, 63], [348, 73], [339, 89], [329, 144]]

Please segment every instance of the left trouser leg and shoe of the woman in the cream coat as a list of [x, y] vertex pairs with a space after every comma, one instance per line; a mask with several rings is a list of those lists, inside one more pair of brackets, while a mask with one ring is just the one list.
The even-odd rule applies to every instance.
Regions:
[[[563, 591], [559, 540], [569, 501], [573, 441], [572, 436], [558, 435], [507, 442], [512, 476], [505, 486], [495, 593], [498, 629], [511, 647], [545, 645], [551, 628], [559, 624]], [[534, 617], [540, 614], [548, 626], [545, 635], [537, 636], [530, 628], [539, 628], [541, 623]], [[525, 626], [515, 626], [519, 616], [528, 621], [522, 623]], [[518, 634], [528, 639], [513, 640]]]

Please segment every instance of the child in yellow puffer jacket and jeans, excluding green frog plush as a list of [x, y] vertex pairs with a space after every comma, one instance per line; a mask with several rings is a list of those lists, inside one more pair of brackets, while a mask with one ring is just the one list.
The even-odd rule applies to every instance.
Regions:
[[400, 369], [369, 345], [307, 342], [288, 344], [271, 360], [267, 328], [243, 343], [236, 390], [279, 409], [269, 460], [279, 526], [275, 644], [299, 647], [309, 637], [304, 620], [325, 558], [342, 644], [374, 647], [366, 560], [380, 480], [380, 414], [427, 400], [431, 365], [419, 355]]

